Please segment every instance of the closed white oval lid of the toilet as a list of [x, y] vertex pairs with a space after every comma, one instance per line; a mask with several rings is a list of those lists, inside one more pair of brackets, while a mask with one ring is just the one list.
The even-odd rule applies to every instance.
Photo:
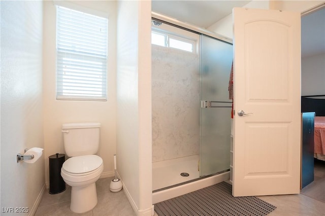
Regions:
[[63, 163], [62, 168], [70, 173], [91, 172], [99, 168], [103, 163], [103, 159], [97, 155], [83, 155], [69, 158]]

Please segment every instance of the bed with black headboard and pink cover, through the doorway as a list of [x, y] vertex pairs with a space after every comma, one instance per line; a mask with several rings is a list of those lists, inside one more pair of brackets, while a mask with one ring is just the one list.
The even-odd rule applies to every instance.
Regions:
[[325, 161], [325, 95], [302, 96], [301, 112], [315, 112], [314, 158]]

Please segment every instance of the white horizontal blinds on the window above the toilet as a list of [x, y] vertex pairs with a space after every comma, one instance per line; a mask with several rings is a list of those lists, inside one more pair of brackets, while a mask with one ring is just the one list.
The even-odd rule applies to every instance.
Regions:
[[57, 6], [57, 99], [107, 99], [107, 23]]

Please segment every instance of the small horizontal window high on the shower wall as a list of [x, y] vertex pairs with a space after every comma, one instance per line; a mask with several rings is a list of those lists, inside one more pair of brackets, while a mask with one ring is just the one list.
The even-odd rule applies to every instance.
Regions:
[[196, 51], [196, 41], [154, 30], [151, 31], [151, 44], [179, 49], [191, 53]]

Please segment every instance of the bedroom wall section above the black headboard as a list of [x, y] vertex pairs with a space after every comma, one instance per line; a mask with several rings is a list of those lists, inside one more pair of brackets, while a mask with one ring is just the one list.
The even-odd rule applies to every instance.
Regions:
[[325, 94], [325, 53], [301, 59], [301, 95]]

